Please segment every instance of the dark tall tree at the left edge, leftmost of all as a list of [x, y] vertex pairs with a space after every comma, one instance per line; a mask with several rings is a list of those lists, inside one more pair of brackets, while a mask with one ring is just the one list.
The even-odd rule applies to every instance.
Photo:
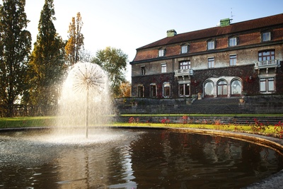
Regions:
[[25, 0], [3, 0], [0, 5], [0, 104], [4, 115], [13, 116], [13, 104], [25, 89], [31, 35]]

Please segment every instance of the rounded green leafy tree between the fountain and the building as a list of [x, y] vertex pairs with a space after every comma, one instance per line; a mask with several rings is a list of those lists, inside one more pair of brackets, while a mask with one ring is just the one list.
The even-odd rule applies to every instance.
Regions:
[[120, 85], [126, 80], [127, 58], [128, 56], [122, 50], [106, 47], [105, 50], [98, 50], [96, 57], [92, 60], [108, 73], [110, 89], [114, 97], [120, 96]]

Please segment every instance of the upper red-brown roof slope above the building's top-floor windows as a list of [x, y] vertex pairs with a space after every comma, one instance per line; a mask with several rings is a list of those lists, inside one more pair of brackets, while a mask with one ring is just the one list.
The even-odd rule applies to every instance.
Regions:
[[247, 30], [255, 30], [258, 28], [268, 28], [274, 25], [283, 24], [283, 13], [267, 16], [264, 18], [257, 18], [250, 21], [243, 21], [239, 23], [231, 23], [224, 27], [207, 28], [204, 30], [195, 30], [188, 33], [180, 33], [173, 37], [163, 38], [156, 42], [152, 42], [149, 45], [137, 48], [137, 50], [147, 49], [151, 47], [160, 47], [164, 45], [171, 45], [178, 42], [186, 42], [190, 40], [198, 40], [202, 38], [213, 38], [219, 35], [227, 35], [233, 33], [239, 33]]

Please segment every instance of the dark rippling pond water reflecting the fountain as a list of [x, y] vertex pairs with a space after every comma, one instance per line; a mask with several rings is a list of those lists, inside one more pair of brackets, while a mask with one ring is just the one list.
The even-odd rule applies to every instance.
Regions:
[[241, 188], [283, 168], [272, 149], [178, 130], [0, 133], [0, 188]]

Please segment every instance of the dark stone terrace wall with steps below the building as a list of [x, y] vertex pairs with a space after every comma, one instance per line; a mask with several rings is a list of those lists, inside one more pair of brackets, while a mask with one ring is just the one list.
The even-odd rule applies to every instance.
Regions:
[[283, 113], [283, 96], [247, 96], [245, 103], [240, 98], [117, 98], [116, 113], [119, 114], [241, 114]]

